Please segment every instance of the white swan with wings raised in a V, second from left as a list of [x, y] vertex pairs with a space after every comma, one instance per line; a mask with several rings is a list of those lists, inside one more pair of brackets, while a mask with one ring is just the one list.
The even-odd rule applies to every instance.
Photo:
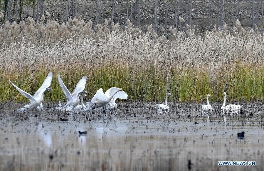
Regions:
[[80, 94], [87, 93], [86, 91], [84, 91], [86, 79], [87, 79], [86, 75], [83, 76], [83, 78], [80, 79], [80, 81], [77, 83], [76, 87], [74, 88], [73, 93], [70, 94], [69, 90], [67, 89], [63, 81], [61, 80], [60, 74], [58, 74], [58, 81], [60, 83], [60, 87], [67, 98], [66, 105], [73, 105], [73, 107], [75, 107], [76, 105], [80, 103]]

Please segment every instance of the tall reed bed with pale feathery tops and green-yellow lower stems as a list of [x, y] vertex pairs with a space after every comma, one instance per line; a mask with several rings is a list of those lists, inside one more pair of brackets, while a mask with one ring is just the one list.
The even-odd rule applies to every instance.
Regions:
[[167, 92], [174, 94], [171, 101], [200, 102], [208, 93], [221, 101], [224, 91], [229, 101], [263, 101], [263, 35], [239, 24], [231, 32], [225, 25], [204, 35], [186, 25], [184, 33], [171, 28], [159, 37], [151, 25], [143, 32], [129, 20], [124, 29], [110, 19], [94, 30], [81, 16], [61, 25], [45, 17], [41, 23], [6, 22], [0, 28], [0, 101], [26, 100], [9, 79], [34, 93], [50, 71], [46, 101], [65, 100], [58, 72], [71, 91], [86, 74], [90, 98], [115, 86], [130, 101], [163, 101]]

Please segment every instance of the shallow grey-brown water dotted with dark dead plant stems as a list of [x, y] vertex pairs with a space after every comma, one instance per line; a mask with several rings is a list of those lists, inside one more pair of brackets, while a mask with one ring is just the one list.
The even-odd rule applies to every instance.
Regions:
[[263, 103], [243, 104], [243, 114], [226, 123], [221, 103], [212, 104], [209, 120], [197, 103], [170, 103], [166, 114], [154, 103], [124, 102], [105, 113], [58, 112], [56, 103], [14, 112], [23, 105], [0, 104], [0, 170], [264, 170]]

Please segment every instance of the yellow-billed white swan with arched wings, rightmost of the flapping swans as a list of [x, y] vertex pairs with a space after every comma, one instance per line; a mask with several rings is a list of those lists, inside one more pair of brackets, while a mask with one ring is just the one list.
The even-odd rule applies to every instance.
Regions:
[[96, 107], [106, 107], [106, 105], [112, 100], [112, 98], [117, 97], [119, 99], [125, 99], [126, 97], [126, 93], [118, 93], [120, 91], [122, 91], [122, 88], [116, 88], [116, 87], [112, 87], [109, 94], [105, 94], [103, 92], [103, 89], [100, 88], [99, 90], [97, 90], [97, 92], [95, 93], [95, 95], [93, 96], [93, 99], [91, 100], [91, 103], [94, 103], [94, 109]]

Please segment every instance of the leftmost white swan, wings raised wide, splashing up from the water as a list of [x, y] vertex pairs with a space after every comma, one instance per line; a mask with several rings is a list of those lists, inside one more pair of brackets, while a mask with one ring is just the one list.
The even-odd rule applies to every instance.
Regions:
[[42, 101], [43, 101], [43, 97], [44, 97], [44, 93], [48, 90], [50, 90], [50, 86], [51, 86], [51, 80], [52, 80], [52, 72], [50, 72], [48, 74], [48, 76], [46, 77], [46, 79], [43, 81], [41, 87], [39, 87], [39, 89], [35, 92], [35, 94], [33, 96], [31, 96], [31, 94], [21, 90], [19, 87], [17, 87], [15, 84], [13, 84], [10, 80], [9, 82], [11, 82], [11, 84], [26, 98], [29, 99], [30, 104], [27, 104], [26, 106], [24, 106], [25, 108], [30, 108], [30, 109], [35, 109], [36, 107], [42, 107]]

